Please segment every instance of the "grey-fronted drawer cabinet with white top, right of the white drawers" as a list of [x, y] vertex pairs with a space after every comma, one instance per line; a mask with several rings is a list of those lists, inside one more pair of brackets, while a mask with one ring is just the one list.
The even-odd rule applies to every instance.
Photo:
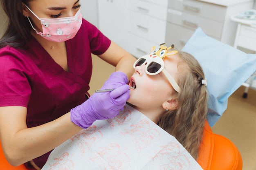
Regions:
[[231, 22], [230, 16], [252, 8], [253, 0], [227, 2], [168, 0], [166, 43], [173, 43], [182, 49], [195, 29], [201, 27], [207, 35], [233, 45], [236, 25]]

